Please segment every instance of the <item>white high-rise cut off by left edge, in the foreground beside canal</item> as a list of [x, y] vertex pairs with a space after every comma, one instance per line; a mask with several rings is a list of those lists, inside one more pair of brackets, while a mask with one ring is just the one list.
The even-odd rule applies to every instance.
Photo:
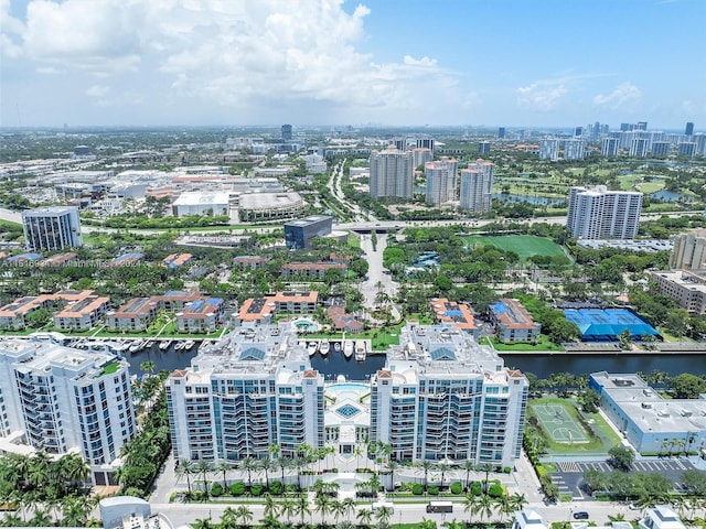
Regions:
[[35, 339], [0, 343], [0, 438], [50, 454], [78, 450], [96, 485], [137, 432], [127, 360]]

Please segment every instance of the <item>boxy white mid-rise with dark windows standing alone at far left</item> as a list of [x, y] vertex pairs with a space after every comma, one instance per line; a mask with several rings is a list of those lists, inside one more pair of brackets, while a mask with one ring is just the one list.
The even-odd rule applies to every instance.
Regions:
[[40, 207], [22, 212], [28, 250], [61, 250], [83, 245], [77, 207]]

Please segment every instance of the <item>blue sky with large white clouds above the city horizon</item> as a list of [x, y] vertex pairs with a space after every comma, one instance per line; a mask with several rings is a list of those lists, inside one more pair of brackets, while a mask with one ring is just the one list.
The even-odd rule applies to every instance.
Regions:
[[706, 0], [0, 0], [0, 127], [706, 130]]

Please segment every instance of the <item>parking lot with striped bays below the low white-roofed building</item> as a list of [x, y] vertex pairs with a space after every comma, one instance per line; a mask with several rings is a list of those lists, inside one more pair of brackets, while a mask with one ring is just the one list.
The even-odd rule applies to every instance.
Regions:
[[[556, 463], [558, 472], [552, 474], [552, 481], [559, 488], [559, 494], [570, 494], [574, 499], [590, 499], [580, 484], [584, 479], [584, 472], [595, 469], [600, 472], [612, 472], [614, 468], [606, 461], [561, 461]], [[680, 479], [684, 471], [694, 468], [687, 460], [677, 458], [654, 458], [639, 460], [632, 464], [633, 472], [646, 474], [656, 473], [668, 477], [674, 482], [674, 488], [680, 490], [682, 485]]]

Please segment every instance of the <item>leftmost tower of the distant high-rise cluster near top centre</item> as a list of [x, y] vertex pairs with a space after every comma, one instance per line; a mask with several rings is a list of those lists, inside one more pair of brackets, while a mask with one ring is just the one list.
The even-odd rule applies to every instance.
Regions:
[[413, 197], [414, 156], [397, 149], [373, 151], [371, 154], [371, 197]]

